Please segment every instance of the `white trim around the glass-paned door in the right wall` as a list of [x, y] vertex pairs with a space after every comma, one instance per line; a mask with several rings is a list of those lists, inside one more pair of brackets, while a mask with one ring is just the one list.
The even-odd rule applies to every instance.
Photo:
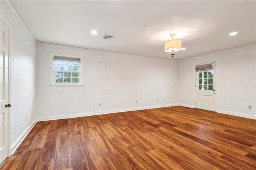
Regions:
[[[197, 79], [197, 73], [196, 73], [196, 66], [197, 65], [204, 65], [204, 64], [210, 64], [212, 62], [215, 62], [215, 93], [216, 93], [216, 97], [215, 97], [215, 112], [218, 111], [218, 59], [214, 59], [214, 60], [208, 60], [208, 61], [204, 61], [204, 62], [198, 62], [198, 63], [194, 63], [194, 101], [196, 101], [196, 79]], [[196, 108], [196, 103], [194, 103], [194, 108]]]

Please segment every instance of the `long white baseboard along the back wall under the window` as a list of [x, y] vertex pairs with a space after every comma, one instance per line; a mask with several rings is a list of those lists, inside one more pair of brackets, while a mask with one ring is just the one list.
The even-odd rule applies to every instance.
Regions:
[[178, 106], [178, 104], [156, 105], [156, 106], [146, 106], [146, 107], [133, 107], [133, 108], [127, 108], [127, 109], [116, 109], [116, 110], [108, 110], [108, 111], [87, 112], [87, 113], [78, 113], [78, 114], [72, 114], [72, 115], [58, 115], [58, 116], [49, 116], [49, 117], [38, 117], [36, 119], [36, 122], [52, 121], [52, 120], [58, 120], [58, 119], [69, 119], [69, 118], [75, 118], [75, 117], [94, 116], [94, 115], [104, 115], [104, 114], [118, 113], [118, 112], [139, 111], [139, 110], [144, 110], [144, 109], [155, 109], [155, 108], [171, 107], [171, 106]]

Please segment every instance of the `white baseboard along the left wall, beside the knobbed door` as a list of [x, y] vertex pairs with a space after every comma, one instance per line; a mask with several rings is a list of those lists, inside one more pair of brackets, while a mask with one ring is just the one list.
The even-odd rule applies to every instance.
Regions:
[[20, 144], [23, 142], [23, 140], [26, 138], [28, 133], [32, 130], [32, 128], [36, 125], [37, 121], [36, 119], [26, 128], [26, 130], [20, 135], [20, 137], [12, 144], [11, 148], [9, 148], [9, 155], [11, 156], [15, 150], [20, 146]]

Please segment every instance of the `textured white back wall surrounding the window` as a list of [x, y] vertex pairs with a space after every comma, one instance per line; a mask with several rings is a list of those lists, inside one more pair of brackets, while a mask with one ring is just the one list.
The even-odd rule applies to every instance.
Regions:
[[[84, 87], [50, 87], [50, 53], [83, 56]], [[36, 81], [38, 117], [178, 103], [178, 61], [168, 59], [38, 43]]]

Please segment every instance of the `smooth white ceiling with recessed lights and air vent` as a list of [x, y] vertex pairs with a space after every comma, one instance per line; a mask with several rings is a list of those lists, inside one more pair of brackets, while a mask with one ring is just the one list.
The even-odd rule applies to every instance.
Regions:
[[255, 0], [10, 2], [37, 42], [171, 59], [174, 33], [186, 48], [178, 60], [256, 43]]

